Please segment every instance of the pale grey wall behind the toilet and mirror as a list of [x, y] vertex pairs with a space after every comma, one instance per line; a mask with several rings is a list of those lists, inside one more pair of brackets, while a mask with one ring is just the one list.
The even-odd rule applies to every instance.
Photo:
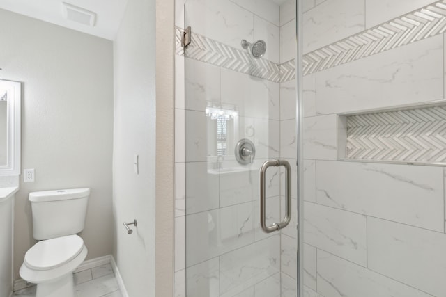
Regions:
[[0, 10], [1, 77], [22, 81], [22, 168], [15, 204], [15, 278], [34, 243], [28, 194], [90, 187], [87, 259], [112, 252], [112, 42]]

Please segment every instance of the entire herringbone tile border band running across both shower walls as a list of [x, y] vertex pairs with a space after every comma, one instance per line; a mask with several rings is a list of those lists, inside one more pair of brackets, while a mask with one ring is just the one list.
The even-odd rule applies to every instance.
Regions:
[[[388, 51], [446, 31], [446, 0], [436, 1], [344, 40], [316, 49], [303, 56], [303, 75]], [[224, 45], [192, 33], [191, 45], [181, 47], [182, 29], [176, 28], [176, 54], [226, 69], [251, 74], [269, 81], [285, 82], [295, 78], [295, 60], [281, 65], [253, 59], [242, 49]]]

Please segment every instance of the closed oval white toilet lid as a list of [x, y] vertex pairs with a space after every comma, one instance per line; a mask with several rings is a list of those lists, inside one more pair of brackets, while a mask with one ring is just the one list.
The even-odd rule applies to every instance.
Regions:
[[79, 255], [83, 246], [84, 241], [77, 235], [39, 241], [26, 252], [24, 262], [36, 270], [56, 268]]

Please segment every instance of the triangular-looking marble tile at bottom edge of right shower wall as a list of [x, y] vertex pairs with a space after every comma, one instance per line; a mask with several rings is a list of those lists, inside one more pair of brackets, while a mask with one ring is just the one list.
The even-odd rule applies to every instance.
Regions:
[[429, 297], [417, 289], [318, 250], [318, 292], [345, 297]]

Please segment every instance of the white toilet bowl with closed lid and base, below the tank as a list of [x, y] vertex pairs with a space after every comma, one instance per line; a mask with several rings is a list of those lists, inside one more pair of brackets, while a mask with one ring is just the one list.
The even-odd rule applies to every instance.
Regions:
[[39, 241], [26, 252], [20, 276], [37, 284], [36, 297], [74, 297], [73, 271], [87, 254], [77, 235]]

